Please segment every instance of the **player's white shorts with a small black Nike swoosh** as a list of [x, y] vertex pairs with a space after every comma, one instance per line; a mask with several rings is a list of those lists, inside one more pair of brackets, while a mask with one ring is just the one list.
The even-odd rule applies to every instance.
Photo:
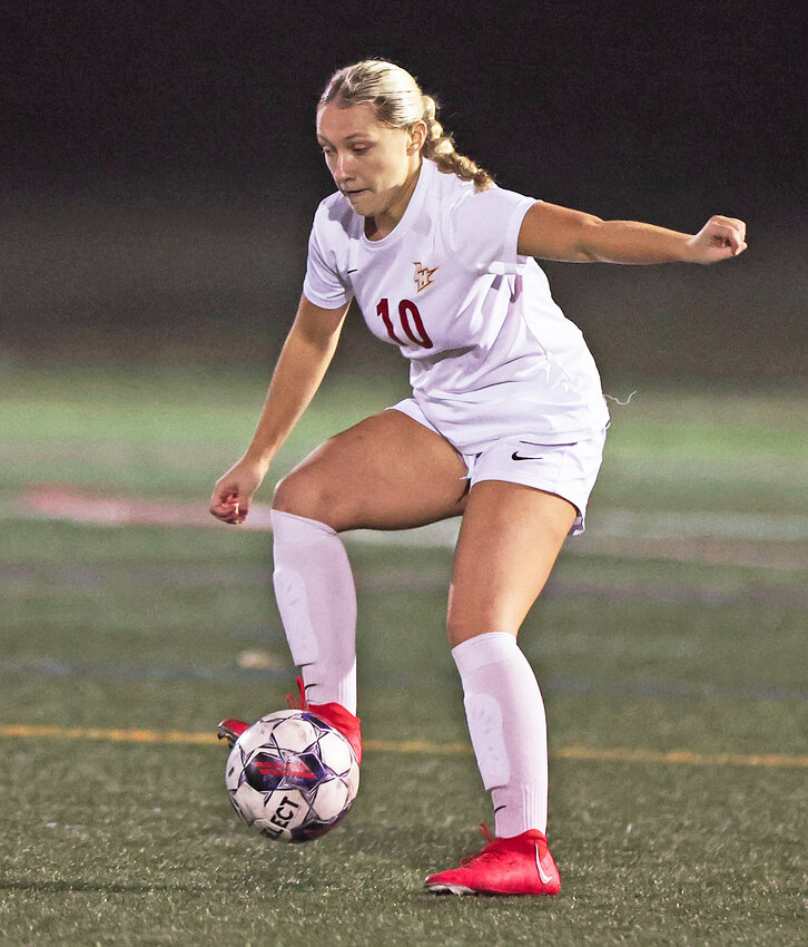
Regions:
[[[414, 398], [405, 398], [388, 410], [401, 411], [436, 435], [441, 433]], [[603, 460], [605, 435], [607, 429], [602, 428], [572, 443], [551, 445], [540, 443], [535, 438], [523, 440], [508, 436], [491, 441], [479, 453], [461, 453], [461, 457], [470, 487], [481, 480], [504, 480], [569, 500], [578, 510], [570, 536], [579, 536], [585, 528], [587, 502]]]

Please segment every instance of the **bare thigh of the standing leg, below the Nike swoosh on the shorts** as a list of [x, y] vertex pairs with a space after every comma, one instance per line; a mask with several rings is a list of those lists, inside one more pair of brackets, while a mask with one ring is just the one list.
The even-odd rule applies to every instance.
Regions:
[[503, 480], [472, 487], [450, 588], [453, 646], [487, 632], [519, 632], [577, 514], [569, 500], [534, 487]]

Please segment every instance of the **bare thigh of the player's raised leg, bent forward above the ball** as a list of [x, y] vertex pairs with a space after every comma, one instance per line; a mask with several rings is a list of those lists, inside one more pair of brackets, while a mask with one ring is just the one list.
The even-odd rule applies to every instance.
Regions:
[[463, 511], [457, 451], [402, 411], [374, 414], [314, 450], [277, 486], [273, 506], [344, 529], [407, 529]]

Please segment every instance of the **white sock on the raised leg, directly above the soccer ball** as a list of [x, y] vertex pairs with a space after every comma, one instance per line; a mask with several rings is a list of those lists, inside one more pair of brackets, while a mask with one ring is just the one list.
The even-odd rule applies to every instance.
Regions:
[[331, 526], [272, 510], [275, 598], [312, 703], [356, 713], [356, 589]]

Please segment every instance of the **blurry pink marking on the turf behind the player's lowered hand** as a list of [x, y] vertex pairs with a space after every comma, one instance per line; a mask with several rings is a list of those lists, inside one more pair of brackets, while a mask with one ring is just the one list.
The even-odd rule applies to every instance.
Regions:
[[[208, 512], [203, 502], [105, 497], [58, 485], [29, 488], [20, 498], [20, 505], [45, 519], [95, 523], [98, 526], [225, 526]], [[249, 516], [240, 528], [268, 530], [269, 507], [264, 504], [250, 507]]]

